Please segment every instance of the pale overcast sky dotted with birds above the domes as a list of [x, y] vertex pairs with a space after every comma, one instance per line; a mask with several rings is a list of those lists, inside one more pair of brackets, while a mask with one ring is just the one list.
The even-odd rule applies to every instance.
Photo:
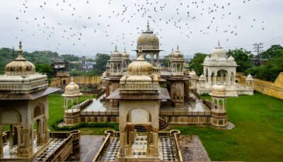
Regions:
[[131, 54], [149, 21], [163, 54], [253, 50], [283, 45], [282, 0], [9, 0], [0, 5], [0, 47], [95, 56], [114, 46]]

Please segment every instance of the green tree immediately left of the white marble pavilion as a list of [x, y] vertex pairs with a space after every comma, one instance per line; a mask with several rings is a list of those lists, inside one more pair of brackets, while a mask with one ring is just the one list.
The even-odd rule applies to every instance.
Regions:
[[195, 73], [200, 76], [203, 74], [203, 62], [207, 54], [204, 53], [196, 53], [192, 60], [189, 62], [189, 66], [191, 69], [195, 70]]

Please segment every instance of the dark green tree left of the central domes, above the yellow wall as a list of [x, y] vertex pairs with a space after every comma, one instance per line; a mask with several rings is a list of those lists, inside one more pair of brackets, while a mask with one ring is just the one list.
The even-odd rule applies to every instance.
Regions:
[[96, 74], [101, 75], [106, 69], [106, 64], [110, 56], [108, 54], [96, 54], [96, 64], [94, 65], [94, 71]]

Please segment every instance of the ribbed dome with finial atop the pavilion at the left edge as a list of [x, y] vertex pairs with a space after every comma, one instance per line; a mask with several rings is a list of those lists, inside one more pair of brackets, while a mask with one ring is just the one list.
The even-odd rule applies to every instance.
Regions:
[[5, 73], [7, 76], [35, 74], [35, 65], [28, 62], [22, 54], [22, 43], [20, 42], [18, 57], [13, 62], [8, 63], [5, 67]]

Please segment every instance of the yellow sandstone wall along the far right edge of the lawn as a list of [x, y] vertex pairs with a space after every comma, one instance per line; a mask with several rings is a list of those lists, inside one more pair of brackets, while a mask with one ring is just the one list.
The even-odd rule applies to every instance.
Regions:
[[[246, 76], [238, 76], [238, 83], [246, 85]], [[274, 83], [271, 81], [254, 79], [254, 85], [255, 91], [283, 100], [283, 72], [277, 76]]]

